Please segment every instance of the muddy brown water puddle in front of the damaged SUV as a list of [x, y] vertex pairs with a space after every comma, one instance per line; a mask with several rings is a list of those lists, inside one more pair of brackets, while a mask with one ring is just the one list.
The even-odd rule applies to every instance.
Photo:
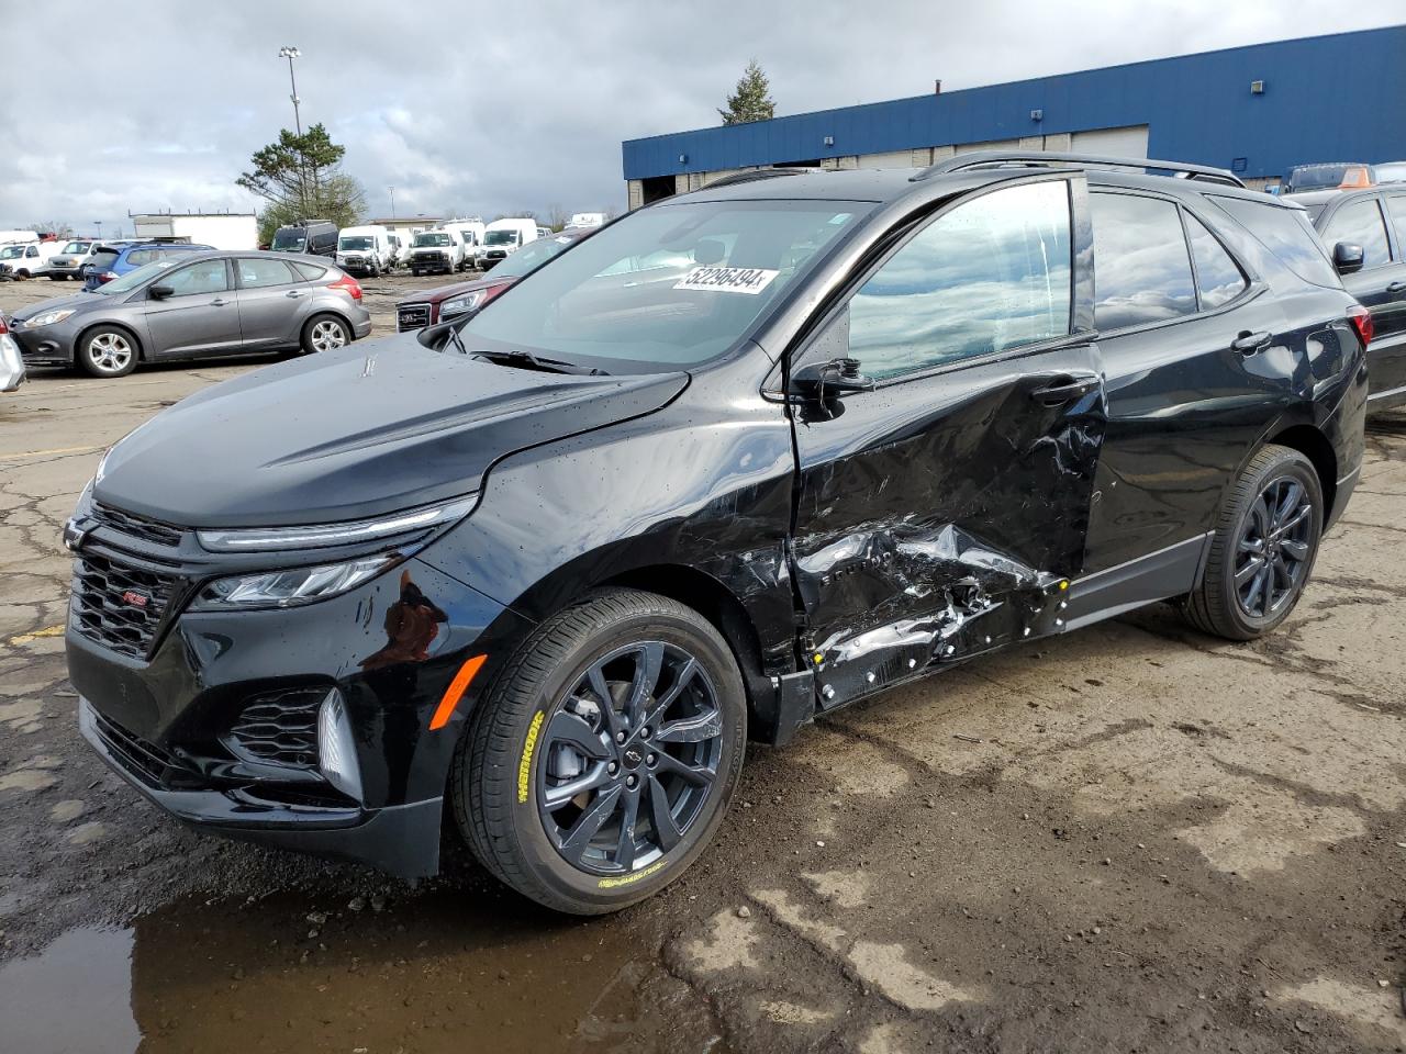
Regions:
[[0, 968], [25, 1054], [679, 1050], [725, 1054], [707, 1005], [620, 919], [468, 891], [184, 902]]

